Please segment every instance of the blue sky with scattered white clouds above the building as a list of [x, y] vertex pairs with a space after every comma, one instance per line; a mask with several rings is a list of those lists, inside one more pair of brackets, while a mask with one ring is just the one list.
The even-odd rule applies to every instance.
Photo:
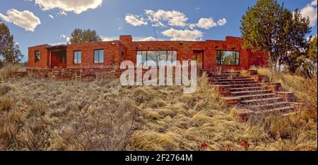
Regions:
[[[75, 2], [75, 3], [74, 3]], [[278, 0], [279, 3], [283, 1]], [[256, 0], [1, 0], [6, 23], [25, 54], [37, 44], [66, 42], [74, 28], [93, 29], [103, 39], [224, 39], [240, 36], [240, 19]], [[284, 1], [312, 20], [317, 35], [317, 0]], [[145, 10], [148, 10], [147, 12]]]

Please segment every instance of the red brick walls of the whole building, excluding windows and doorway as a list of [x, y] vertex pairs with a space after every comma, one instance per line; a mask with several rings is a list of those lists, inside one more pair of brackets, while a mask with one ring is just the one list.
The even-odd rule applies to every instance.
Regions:
[[[57, 79], [64, 79], [64, 75], [72, 75], [81, 69], [92, 68], [93, 72], [98, 72], [96, 68], [104, 68], [101, 71], [114, 71], [120, 66], [123, 60], [133, 61], [136, 64], [136, 51], [146, 50], [172, 50], [177, 51], [178, 61], [189, 61], [192, 59], [193, 51], [204, 51], [203, 66], [204, 70], [216, 70], [217, 68], [247, 70], [250, 66], [267, 66], [267, 56], [263, 52], [252, 52], [242, 49], [243, 39], [240, 37], [225, 37], [225, 41], [206, 40], [205, 42], [180, 42], [180, 41], [147, 41], [134, 42], [131, 35], [122, 35], [119, 41], [110, 42], [90, 42], [85, 44], [69, 44], [66, 48], [67, 65], [69, 70], [48, 69], [50, 66], [51, 52], [46, 49], [49, 45], [44, 44], [36, 47], [29, 47], [29, 68], [40, 68], [38, 71], [29, 70], [30, 75], [39, 74], [40, 76], [49, 76]], [[94, 63], [94, 50], [104, 50], [104, 63]], [[240, 65], [239, 66], [217, 66], [216, 54], [218, 50], [240, 51]], [[35, 51], [40, 51], [40, 61], [35, 62]], [[54, 51], [54, 50], [52, 50]], [[81, 63], [74, 63], [73, 51], [81, 51]], [[78, 70], [70, 70], [71, 68], [78, 68]], [[45, 74], [44, 72], [48, 72]], [[88, 72], [88, 74], [90, 74]]]

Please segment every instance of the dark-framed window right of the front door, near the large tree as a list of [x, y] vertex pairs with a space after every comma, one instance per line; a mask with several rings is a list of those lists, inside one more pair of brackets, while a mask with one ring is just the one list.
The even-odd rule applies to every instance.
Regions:
[[240, 51], [218, 50], [216, 64], [218, 66], [238, 66], [240, 64]]

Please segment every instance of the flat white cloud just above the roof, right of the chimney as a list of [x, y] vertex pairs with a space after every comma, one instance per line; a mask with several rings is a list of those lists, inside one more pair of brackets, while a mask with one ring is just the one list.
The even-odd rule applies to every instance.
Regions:
[[171, 28], [162, 32], [164, 36], [171, 37], [171, 40], [196, 41], [204, 37], [199, 30], [175, 30]]

